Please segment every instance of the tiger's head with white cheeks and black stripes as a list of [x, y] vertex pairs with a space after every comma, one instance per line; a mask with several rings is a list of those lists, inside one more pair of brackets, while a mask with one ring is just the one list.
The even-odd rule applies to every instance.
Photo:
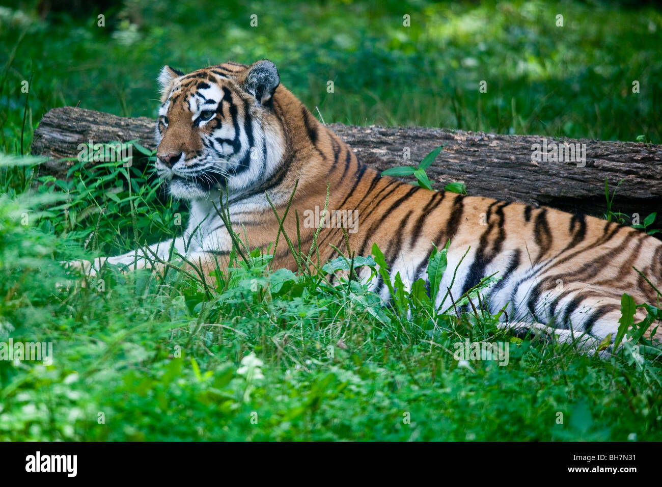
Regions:
[[285, 148], [273, 109], [273, 62], [228, 62], [183, 74], [164, 66], [158, 81], [156, 170], [173, 197], [241, 193], [271, 176]]

